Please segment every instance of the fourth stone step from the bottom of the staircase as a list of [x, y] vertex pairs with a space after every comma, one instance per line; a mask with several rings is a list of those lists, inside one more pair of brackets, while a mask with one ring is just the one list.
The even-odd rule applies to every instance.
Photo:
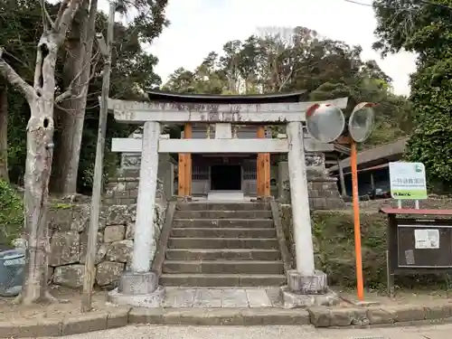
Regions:
[[253, 238], [170, 238], [169, 249], [261, 249], [278, 250], [278, 240]]

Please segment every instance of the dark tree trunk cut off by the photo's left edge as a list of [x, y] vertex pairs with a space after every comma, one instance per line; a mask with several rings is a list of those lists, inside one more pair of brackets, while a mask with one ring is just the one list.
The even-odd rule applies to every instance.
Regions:
[[8, 94], [0, 80], [0, 179], [9, 182], [8, 175]]

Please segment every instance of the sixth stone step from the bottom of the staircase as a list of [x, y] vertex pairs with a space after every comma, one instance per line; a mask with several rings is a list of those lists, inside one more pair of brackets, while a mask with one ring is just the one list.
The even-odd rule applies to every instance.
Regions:
[[174, 219], [173, 227], [180, 228], [245, 228], [272, 229], [271, 219]]

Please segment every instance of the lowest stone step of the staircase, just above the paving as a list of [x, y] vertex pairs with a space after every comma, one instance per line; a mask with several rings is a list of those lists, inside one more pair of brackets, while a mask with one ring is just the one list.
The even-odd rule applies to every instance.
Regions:
[[162, 274], [159, 283], [180, 287], [269, 287], [283, 286], [282, 274]]

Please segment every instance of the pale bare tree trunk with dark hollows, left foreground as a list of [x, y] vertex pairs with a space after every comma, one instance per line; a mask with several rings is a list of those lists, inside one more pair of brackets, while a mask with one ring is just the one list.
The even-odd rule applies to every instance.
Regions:
[[55, 64], [58, 45], [52, 34], [43, 34], [38, 45], [35, 88], [39, 94], [29, 102], [31, 118], [27, 125], [27, 157], [25, 163], [25, 232], [28, 258], [22, 301], [25, 305], [48, 299], [47, 271], [49, 237], [47, 200], [53, 155], [53, 106], [55, 94]]

